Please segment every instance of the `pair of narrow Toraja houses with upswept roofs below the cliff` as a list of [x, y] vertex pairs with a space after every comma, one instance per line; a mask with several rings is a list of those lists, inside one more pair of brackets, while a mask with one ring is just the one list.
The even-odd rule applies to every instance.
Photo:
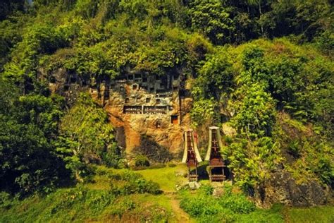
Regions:
[[[185, 131], [185, 151], [183, 153], [183, 163], [187, 164], [189, 181], [197, 181], [197, 167], [202, 158], [197, 147], [198, 135], [192, 129]], [[225, 163], [221, 155], [223, 143], [221, 133], [216, 126], [209, 127], [209, 143], [206, 151], [205, 160], [209, 161], [208, 174], [210, 181], [225, 180]]]

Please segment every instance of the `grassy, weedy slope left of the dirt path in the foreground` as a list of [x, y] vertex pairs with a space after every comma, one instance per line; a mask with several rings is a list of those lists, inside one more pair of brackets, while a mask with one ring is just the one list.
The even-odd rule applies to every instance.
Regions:
[[[103, 176], [110, 188], [100, 190], [84, 184], [76, 188], [58, 189], [46, 197], [34, 195], [22, 201], [11, 200], [8, 194], [1, 193], [0, 221], [50, 222], [56, 219], [56, 222], [82, 222], [125, 219], [156, 222], [170, 217], [168, 208], [144, 199], [149, 196], [147, 193], [160, 193], [156, 183], [146, 181], [131, 171], [114, 172], [106, 168], [98, 168], [97, 176]], [[140, 203], [138, 200], [141, 200]]]

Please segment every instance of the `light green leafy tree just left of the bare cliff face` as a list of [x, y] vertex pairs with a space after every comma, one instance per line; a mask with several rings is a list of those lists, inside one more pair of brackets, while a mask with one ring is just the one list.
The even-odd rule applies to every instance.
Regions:
[[117, 167], [120, 150], [113, 139], [113, 128], [106, 112], [83, 94], [61, 119], [58, 152], [79, 182], [88, 174], [90, 162]]

